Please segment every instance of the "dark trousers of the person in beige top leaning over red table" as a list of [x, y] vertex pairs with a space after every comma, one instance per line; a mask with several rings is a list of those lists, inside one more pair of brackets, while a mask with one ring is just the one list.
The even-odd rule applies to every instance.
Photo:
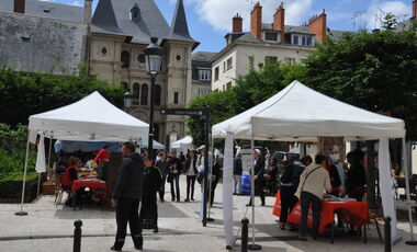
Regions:
[[307, 236], [307, 216], [309, 204], [312, 204], [313, 211], [313, 238], [318, 236], [318, 225], [320, 224], [320, 211], [322, 211], [322, 199], [316, 195], [302, 192], [301, 193], [301, 224], [300, 224], [300, 236]]

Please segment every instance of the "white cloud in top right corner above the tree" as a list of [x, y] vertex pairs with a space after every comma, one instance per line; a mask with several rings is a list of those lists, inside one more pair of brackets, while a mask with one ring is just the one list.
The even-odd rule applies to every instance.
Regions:
[[[409, 1], [410, 2], [410, 1]], [[367, 28], [381, 27], [381, 20], [384, 19], [386, 13], [393, 13], [398, 20], [404, 20], [405, 16], [409, 16], [412, 7], [403, 1], [380, 1], [373, 0], [368, 11], [365, 12], [364, 22]]]

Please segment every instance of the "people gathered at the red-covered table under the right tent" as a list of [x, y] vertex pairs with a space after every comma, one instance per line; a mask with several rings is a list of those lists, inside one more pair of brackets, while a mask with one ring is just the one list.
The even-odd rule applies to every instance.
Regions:
[[[281, 175], [281, 218], [280, 228], [285, 229], [289, 213], [301, 201], [300, 239], [306, 240], [308, 207], [312, 205], [313, 229], [312, 237], [317, 239], [322, 201], [324, 192], [337, 197], [348, 196], [358, 202], [365, 193], [365, 171], [361, 163], [363, 153], [351, 151], [347, 154], [347, 170], [343, 170], [346, 181], [340, 179], [337, 167], [329, 157], [317, 154], [314, 159], [305, 156], [301, 162], [289, 165]], [[345, 176], [346, 175], [346, 176]], [[345, 185], [345, 187], [342, 186]], [[339, 219], [339, 224], [341, 220]], [[294, 227], [291, 227], [294, 229]]]

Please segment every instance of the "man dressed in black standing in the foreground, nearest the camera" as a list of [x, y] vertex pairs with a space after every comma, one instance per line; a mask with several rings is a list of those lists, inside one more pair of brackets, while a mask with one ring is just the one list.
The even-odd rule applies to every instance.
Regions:
[[142, 222], [139, 221], [138, 208], [143, 190], [144, 161], [140, 154], [135, 152], [135, 146], [132, 142], [123, 144], [121, 152], [123, 161], [112, 196], [112, 206], [116, 208], [117, 233], [111, 250], [122, 251], [126, 237], [127, 221], [135, 249], [142, 250]]

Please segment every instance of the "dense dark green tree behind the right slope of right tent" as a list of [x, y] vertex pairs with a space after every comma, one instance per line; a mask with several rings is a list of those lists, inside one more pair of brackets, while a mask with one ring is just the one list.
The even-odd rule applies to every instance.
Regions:
[[337, 100], [405, 121], [417, 139], [417, 33], [347, 34], [305, 61], [304, 83]]

